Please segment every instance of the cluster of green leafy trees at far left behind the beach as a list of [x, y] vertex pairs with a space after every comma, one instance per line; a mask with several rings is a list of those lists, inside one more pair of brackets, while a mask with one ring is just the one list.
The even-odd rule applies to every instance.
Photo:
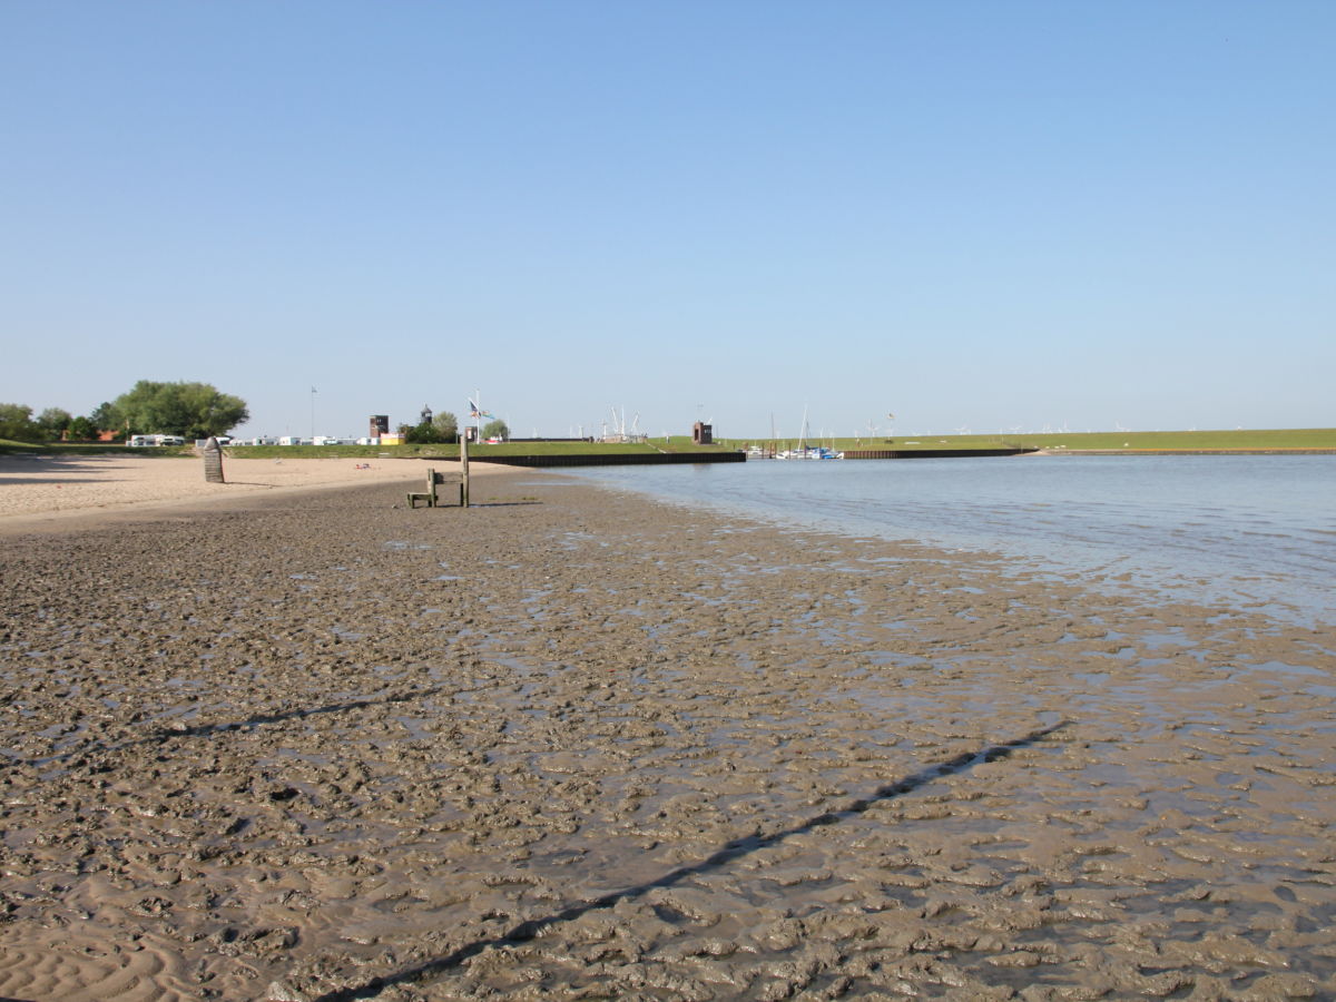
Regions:
[[170, 434], [207, 438], [231, 432], [247, 421], [246, 401], [204, 382], [140, 379], [116, 399], [100, 403], [88, 415], [47, 407], [36, 418], [23, 403], [0, 403], [0, 438], [47, 442], [61, 438], [90, 441], [104, 433]]

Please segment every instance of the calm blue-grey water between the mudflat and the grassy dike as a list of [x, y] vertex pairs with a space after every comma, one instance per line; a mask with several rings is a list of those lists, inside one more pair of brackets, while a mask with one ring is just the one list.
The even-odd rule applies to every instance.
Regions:
[[582, 470], [846, 534], [991, 550], [1212, 604], [1336, 623], [1336, 456], [1063, 456]]

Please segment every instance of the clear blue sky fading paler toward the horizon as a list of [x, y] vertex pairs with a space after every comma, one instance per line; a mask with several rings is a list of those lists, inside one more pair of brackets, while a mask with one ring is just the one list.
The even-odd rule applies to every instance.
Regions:
[[1332, 0], [3, 0], [0, 402], [1332, 426], [1333, 52]]

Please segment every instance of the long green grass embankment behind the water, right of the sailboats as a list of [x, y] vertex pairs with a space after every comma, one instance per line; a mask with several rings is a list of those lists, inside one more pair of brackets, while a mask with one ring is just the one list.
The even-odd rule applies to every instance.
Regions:
[[[737, 448], [768, 446], [768, 440], [728, 440]], [[892, 436], [875, 438], [824, 438], [808, 445], [844, 449], [1001, 449], [1033, 448], [1054, 452], [1284, 452], [1336, 449], [1336, 428], [1297, 428], [1233, 432], [1069, 432], [993, 436]], [[796, 440], [780, 440], [779, 449], [796, 448]]]

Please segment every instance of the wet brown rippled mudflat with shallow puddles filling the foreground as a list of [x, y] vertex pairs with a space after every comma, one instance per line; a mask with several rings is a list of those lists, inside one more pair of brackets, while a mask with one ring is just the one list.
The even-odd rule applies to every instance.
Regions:
[[0, 544], [0, 997], [1336, 997], [1331, 625], [474, 497]]

